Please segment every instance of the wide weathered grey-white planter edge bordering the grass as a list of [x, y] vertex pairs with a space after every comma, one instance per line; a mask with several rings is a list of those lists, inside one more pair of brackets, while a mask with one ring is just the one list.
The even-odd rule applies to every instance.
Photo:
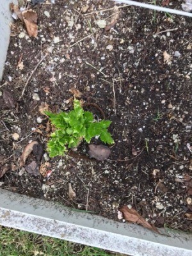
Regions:
[[159, 235], [5, 189], [0, 189], [0, 225], [135, 256], [192, 255], [189, 234]]

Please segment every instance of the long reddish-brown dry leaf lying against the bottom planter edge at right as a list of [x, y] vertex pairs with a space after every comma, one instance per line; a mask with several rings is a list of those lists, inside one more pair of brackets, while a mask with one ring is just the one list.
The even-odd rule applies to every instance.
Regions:
[[154, 227], [154, 225], [151, 225], [150, 223], [148, 223], [143, 217], [141, 217], [141, 215], [134, 209], [129, 209], [127, 207], [127, 205], [124, 205], [121, 209], [121, 212], [123, 212], [124, 214], [124, 218], [127, 221], [131, 221], [137, 224], [141, 224], [143, 227], [145, 228], [149, 228], [150, 230], [153, 230], [157, 233], [159, 233], [159, 231], [157, 230], [156, 227]]

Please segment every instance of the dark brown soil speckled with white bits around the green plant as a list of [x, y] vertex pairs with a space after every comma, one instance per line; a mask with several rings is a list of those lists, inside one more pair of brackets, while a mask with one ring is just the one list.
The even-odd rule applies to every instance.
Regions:
[[[81, 10], [86, 3], [91, 15]], [[180, 2], [170, 3], [180, 9]], [[96, 22], [105, 19], [108, 24], [113, 10], [95, 11], [113, 6], [113, 1], [56, 0], [32, 6], [38, 13], [37, 38], [29, 38], [19, 21], [12, 26], [0, 87], [0, 168], [8, 169], [0, 179], [1, 188], [114, 220], [118, 206], [132, 205], [157, 227], [166, 224], [191, 231], [185, 215], [192, 212], [191, 190], [187, 193], [184, 180], [186, 173], [192, 174], [187, 147], [192, 145], [191, 19], [128, 6], [119, 9], [115, 26], [105, 31]], [[170, 60], [165, 60], [165, 51]], [[22, 70], [17, 68], [21, 55]], [[51, 164], [49, 180], [23, 172], [19, 157], [24, 147], [37, 140], [45, 150], [49, 140], [47, 118], [39, 106], [46, 102], [52, 111], [72, 109], [67, 100], [74, 87], [84, 102], [96, 103], [112, 121], [111, 156], [94, 161], [83, 142], [69, 156], [43, 157], [42, 162]], [[88, 110], [102, 118], [97, 109]], [[19, 140], [13, 140], [14, 133]], [[76, 193], [73, 200], [69, 184]]]

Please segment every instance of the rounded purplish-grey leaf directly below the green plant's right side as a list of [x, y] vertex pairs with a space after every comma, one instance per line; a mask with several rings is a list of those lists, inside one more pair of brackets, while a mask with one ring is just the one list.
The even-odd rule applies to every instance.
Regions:
[[93, 157], [98, 161], [106, 160], [111, 154], [111, 149], [104, 145], [90, 144], [89, 148], [90, 150], [88, 151], [88, 154], [90, 157]]

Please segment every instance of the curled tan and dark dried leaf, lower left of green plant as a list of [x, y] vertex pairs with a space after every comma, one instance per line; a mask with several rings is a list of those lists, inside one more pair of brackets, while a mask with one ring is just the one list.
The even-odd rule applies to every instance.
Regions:
[[33, 152], [36, 156], [36, 159], [40, 161], [43, 155], [42, 146], [37, 141], [32, 141], [26, 146], [22, 152], [22, 155], [20, 156], [20, 167], [24, 166], [26, 159], [28, 158], [29, 154], [31, 154], [31, 152]]

